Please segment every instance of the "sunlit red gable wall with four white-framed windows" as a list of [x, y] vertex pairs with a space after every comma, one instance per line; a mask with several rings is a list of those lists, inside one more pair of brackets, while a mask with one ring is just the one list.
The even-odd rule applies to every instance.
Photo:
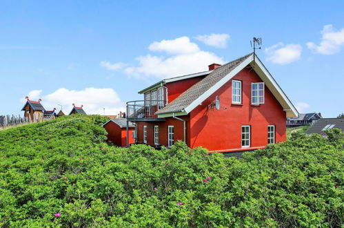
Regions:
[[[285, 112], [265, 86], [265, 104], [251, 105], [251, 83], [262, 82], [253, 70], [243, 69], [233, 79], [242, 81], [242, 105], [232, 104], [232, 80], [190, 113], [190, 145], [210, 151], [241, 150], [241, 126], [251, 126], [251, 149], [267, 144], [267, 125], [275, 125], [276, 142], [286, 140]], [[219, 95], [221, 110], [208, 109]], [[227, 109], [225, 109], [225, 107]], [[250, 149], [249, 148], [249, 149]], [[247, 150], [247, 148], [245, 149]]]

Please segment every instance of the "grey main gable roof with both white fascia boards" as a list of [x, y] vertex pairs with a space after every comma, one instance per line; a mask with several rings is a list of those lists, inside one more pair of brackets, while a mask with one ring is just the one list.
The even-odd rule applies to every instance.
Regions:
[[299, 113], [292, 102], [287, 98], [279, 84], [277, 84], [272, 75], [270, 75], [260, 59], [253, 53], [214, 69], [208, 76], [188, 88], [188, 90], [184, 91], [184, 93], [174, 99], [170, 104], [157, 111], [156, 115], [159, 117], [174, 115], [173, 113], [177, 113], [177, 115], [187, 115], [196, 106], [212, 95], [212, 93], [216, 92], [221, 86], [232, 79], [240, 70], [252, 64], [253, 61], [255, 62], [254, 71], [261, 77], [267, 88], [270, 89], [274, 97], [279, 101], [284, 111], [287, 113], [287, 117], [298, 116]]

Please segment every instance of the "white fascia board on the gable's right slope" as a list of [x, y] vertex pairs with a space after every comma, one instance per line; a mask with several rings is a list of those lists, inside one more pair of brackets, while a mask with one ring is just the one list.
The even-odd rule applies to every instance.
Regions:
[[[281, 87], [279, 86], [279, 84], [277, 84], [274, 77], [272, 77], [272, 75], [269, 73], [267, 68], [265, 68], [264, 64], [261, 62], [261, 60], [258, 57], [255, 57], [255, 60], [256, 60], [255, 61], [256, 66], [259, 67], [259, 69], [262, 71], [263, 75], [261, 75], [261, 73], [257, 69], [254, 69], [254, 71], [256, 71], [256, 73], [259, 75], [259, 77], [261, 77], [263, 82], [265, 82], [265, 85], [267, 86], [267, 88], [270, 89], [272, 94], [274, 94], [274, 91], [276, 90], [276, 92], [278, 93], [278, 95], [280, 97], [277, 96], [276, 94], [274, 94], [274, 97], [276, 97], [276, 99], [283, 106], [283, 108], [285, 110], [287, 110], [287, 108], [290, 108], [290, 111], [286, 111], [287, 117], [298, 117], [299, 112], [296, 110], [296, 108], [294, 107], [292, 102], [290, 102], [290, 99], [288, 99], [287, 95], [285, 95], [285, 93], [282, 91]], [[281, 100], [280, 98], [283, 100]], [[285, 103], [285, 104], [283, 104], [283, 103]]]

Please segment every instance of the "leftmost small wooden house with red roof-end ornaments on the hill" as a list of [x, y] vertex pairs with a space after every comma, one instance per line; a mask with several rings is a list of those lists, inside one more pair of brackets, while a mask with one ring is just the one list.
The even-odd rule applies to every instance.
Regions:
[[25, 98], [27, 101], [23, 108], [21, 108], [21, 111], [24, 111], [26, 122], [43, 122], [43, 111], [45, 111], [45, 108], [41, 104], [42, 100], [39, 99], [38, 102], [34, 102], [29, 97]]

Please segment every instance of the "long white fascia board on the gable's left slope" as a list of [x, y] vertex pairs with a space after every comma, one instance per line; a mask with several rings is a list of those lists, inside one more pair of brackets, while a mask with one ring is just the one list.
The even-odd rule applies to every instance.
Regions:
[[205, 99], [207, 99], [210, 95], [215, 93], [221, 86], [223, 86], [226, 82], [228, 82], [232, 77], [234, 77], [237, 73], [240, 72], [245, 66], [250, 64], [253, 61], [253, 54], [248, 56], [245, 61], [243, 61], [239, 66], [236, 66], [229, 74], [225, 75], [219, 82], [214, 84], [208, 91], [205, 91], [201, 96], [194, 100], [188, 107], [184, 108], [185, 113], [190, 113], [196, 106], [201, 104]]

